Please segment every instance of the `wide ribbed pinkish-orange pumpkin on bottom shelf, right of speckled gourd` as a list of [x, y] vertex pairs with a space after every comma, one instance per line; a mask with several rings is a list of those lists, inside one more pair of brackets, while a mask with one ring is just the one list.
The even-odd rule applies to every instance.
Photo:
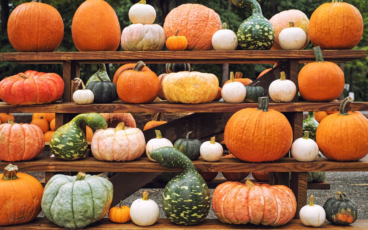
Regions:
[[229, 224], [280, 226], [293, 219], [296, 208], [294, 193], [284, 185], [228, 181], [217, 186], [212, 196], [216, 217]]

